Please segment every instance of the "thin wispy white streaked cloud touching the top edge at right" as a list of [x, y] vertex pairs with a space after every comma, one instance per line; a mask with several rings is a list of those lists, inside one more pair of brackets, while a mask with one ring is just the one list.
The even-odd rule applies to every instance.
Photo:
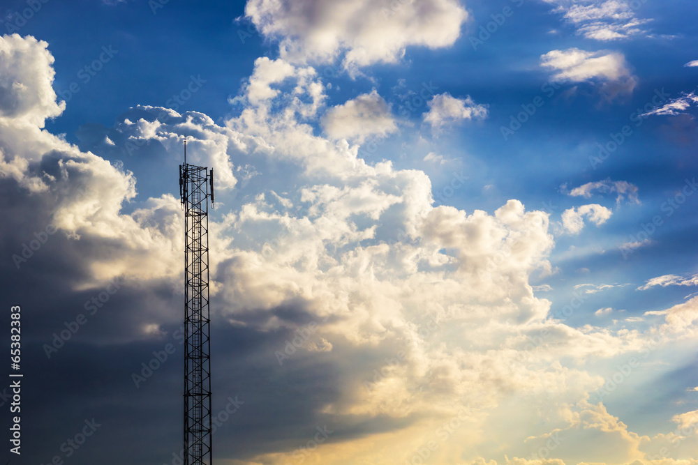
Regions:
[[635, 15], [631, 0], [543, 0], [556, 5], [555, 13], [562, 13], [577, 33], [593, 40], [630, 38], [646, 31], [641, 26], [651, 20]]

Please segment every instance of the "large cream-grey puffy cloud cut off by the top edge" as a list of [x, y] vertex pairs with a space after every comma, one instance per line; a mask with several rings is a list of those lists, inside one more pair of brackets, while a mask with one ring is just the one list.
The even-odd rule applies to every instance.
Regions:
[[395, 63], [406, 47], [450, 47], [468, 13], [456, 0], [250, 0], [245, 15], [265, 36], [280, 41], [286, 61], [345, 68]]

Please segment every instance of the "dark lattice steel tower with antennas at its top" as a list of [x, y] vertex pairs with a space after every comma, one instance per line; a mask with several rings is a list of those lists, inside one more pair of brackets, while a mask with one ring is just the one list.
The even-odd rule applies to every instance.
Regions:
[[[209, 190], [210, 188], [210, 190]], [[184, 209], [184, 465], [211, 465], [209, 203], [214, 170], [179, 165]]]

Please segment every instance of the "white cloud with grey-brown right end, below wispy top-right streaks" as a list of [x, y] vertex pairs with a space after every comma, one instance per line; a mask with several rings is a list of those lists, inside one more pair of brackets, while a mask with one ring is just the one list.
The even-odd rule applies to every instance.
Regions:
[[578, 48], [552, 50], [540, 57], [540, 63], [552, 70], [554, 81], [601, 82], [601, 91], [609, 99], [632, 93], [637, 85], [637, 77], [632, 75], [625, 56], [619, 52], [586, 52]]

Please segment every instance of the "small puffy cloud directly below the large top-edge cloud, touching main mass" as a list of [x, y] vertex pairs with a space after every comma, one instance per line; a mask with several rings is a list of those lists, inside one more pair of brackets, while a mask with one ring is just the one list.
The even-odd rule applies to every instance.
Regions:
[[332, 139], [364, 142], [366, 137], [383, 137], [397, 131], [390, 109], [376, 89], [363, 93], [327, 110], [322, 116], [322, 129]]

